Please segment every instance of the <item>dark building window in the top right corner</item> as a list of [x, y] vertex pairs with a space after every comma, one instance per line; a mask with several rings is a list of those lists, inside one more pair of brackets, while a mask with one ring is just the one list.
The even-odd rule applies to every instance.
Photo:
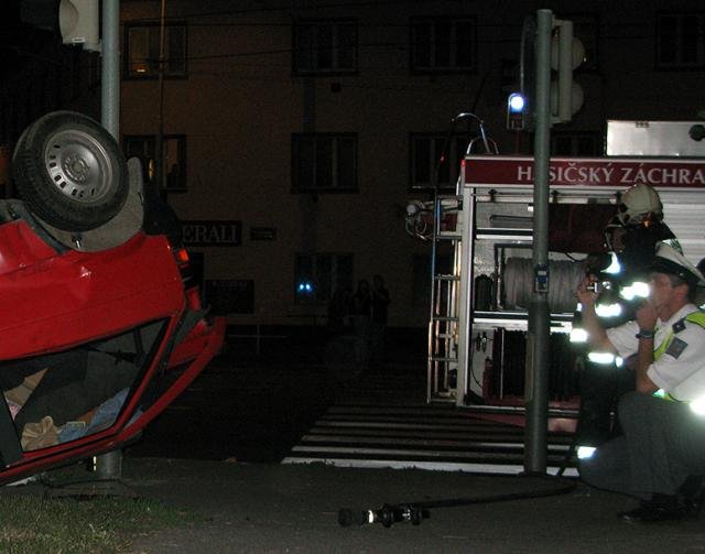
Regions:
[[[676, 19], [676, 26], [674, 36], [662, 36], [662, 22], [666, 18]], [[682, 40], [683, 36], [683, 22], [684, 21], [693, 21], [696, 19], [695, 28], [695, 61], [693, 63], [683, 62], [683, 45], [677, 44], [677, 41]], [[668, 42], [673, 44], [673, 62], [663, 62], [662, 61], [662, 43]], [[694, 11], [663, 11], [658, 12], [655, 17], [655, 29], [654, 29], [654, 67], [657, 70], [662, 72], [683, 72], [683, 70], [702, 70], [705, 68], [705, 11], [704, 10], [694, 10]]]

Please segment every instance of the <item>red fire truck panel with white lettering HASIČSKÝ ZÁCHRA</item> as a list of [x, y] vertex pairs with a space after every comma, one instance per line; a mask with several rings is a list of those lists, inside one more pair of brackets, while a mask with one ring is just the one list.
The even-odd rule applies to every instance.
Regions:
[[[465, 159], [465, 184], [469, 186], [531, 185], [533, 180], [533, 157]], [[627, 188], [646, 183], [654, 187], [705, 189], [705, 161], [553, 157], [549, 180], [551, 186]]]

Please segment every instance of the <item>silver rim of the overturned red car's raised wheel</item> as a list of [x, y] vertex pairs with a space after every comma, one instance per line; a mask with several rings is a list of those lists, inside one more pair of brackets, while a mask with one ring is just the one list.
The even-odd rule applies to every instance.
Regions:
[[77, 203], [94, 204], [111, 188], [113, 171], [108, 152], [87, 132], [68, 129], [51, 135], [44, 164], [56, 191]]

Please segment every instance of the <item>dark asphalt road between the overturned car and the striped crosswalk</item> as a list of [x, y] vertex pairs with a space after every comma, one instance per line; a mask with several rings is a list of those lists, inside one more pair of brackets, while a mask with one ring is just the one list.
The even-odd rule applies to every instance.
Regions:
[[[358, 372], [351, 340], [308, 330], [263, 339], [258, 356], [252, 340], [230, 337], [124, 455], [281, 461]], [[387, 358], [423, 365], [425, 344], [424, 329], [390, 333]]]

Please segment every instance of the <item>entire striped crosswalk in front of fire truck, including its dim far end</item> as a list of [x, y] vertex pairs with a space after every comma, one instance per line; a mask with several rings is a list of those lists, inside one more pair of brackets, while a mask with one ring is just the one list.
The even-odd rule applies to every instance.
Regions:
[[[502, 419], [521, 420], [523, 408], [426, 404], [424, 394], [420, 372], [394, 367], [362, 373], [347, 383], [282, 463], [488, 474], [523, 470], [524, 428]], [[576, 414], [562, 409], [553, 410], [553, 415]], [[549, 472], [575, 474], [572, 443], [570, 433], [547, 434]]]

